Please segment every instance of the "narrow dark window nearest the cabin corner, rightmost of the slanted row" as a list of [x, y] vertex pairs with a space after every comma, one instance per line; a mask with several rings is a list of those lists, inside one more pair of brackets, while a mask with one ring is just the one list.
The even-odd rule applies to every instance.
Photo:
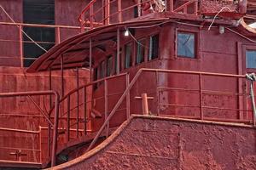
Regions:
[[159, 50], [159, 35], [151, 36], [149, 39], [149, 56], [148, 60], [157, 59]]

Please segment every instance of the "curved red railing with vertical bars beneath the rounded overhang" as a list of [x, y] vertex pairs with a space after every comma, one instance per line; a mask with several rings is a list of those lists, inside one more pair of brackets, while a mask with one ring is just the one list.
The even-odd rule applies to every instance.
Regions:
[[[105, 119], [108, 117], [108, 98], [109, 96], [123, 94], [123, 92], [114, 92], [112, 94], [108, 93], [108, 82], [112, 79], [119, 78], [119, 77], [126, 77], [126, 84], [128, 84], [129, 77], [127, 73], [119, 74], [112, 77], [105, 77], [94, 82], [87, 83], [79, 88], [75, 88], [66, 94], [60, 100], [60, 116], [59, 119], [66, 119], [67, 123], [59, 128], [65, 129], [66, 134], [66, 142], [71, 140], [70, 133], [75, 132], [76, 138], [79, 139], [79, 132], [83, 132], [86, 135], [89, 131], [89, 123], [90, 123], [90, 115], [94, 111], [93, 103], [96, 103], [96, 100], [103, 99], [104, 111], [96, 111], [100, 112], [100, 114], [104, 115]], [[96, 99], [93, 99], [92, 94], [89, 94], [93, 91], [95, 86], [101, 84], [100, 86], [104, 88], [104, 94], [102, 96], [97, 96]], [[90, 97], [90, 98], [89, 98]], [[71, 100], [73, 99], [73, 100]], [[73, 103], [72, 103], [73, 101]], [[66, 107], [66, 108], [65, 108]], [[82, 107], [82, 108], [81, 108]], [[103, 117], [103, 116], [102, 116]], [[71, 120], [74, 120], [71, 123]], [[82, 123], [83, 130], [80, 128]], [[71, 127], [76, 126], [71, 131]], [[108, 134], [107, 134], [108, 135]]]

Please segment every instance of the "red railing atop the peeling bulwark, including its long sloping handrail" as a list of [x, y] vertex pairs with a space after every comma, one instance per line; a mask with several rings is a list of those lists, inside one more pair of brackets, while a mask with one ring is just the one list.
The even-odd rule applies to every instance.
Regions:
[[[236, 78], [236, 79], [246, 79], [246, 76], [242, 76], [242, 75], [232, 75], [232, 74], [221, 74], [221, 73], [210, 73], [210, 72], [201, 72], [201, 71], [175, 71], [175, 70], [160, 70], [160, 69], [140, 69], [139, 71], [137, 71], [137, 74], [135, 75], [135, 77], [133, 77], [132, 81], [129, 83], [129, 85], [127, 86], [127, 88], [125, 89], [124, 94], [122, 94], [122, 96], [120, 97], [120, 99], [118, 100], [118, 102], [116, 103], [116, 105], [114, 105], [113, 110], [110, 112], [110, 114], [108, 115], [108, 118], [105, 120], [105, 122], [102, 124], [102, 127], [99, 129], [99, 131], [96, 134], [95, 139], [93, 139], [93, 141], [90, 143], [90, 146], [88, 148], [88, 150], [91, 150], [92, 147], [96, 144], [97, 139], [99, 139], [99, 137], [101, 136], [103, 130], [108, 126], [109, 121], [113, 118], [113, 116], [115, 115], [116, 111], [118, 110], [119, 106], [121, 105], [121, 103], [124, 101], [124, 99], [127, 97], [127, 95], [131, 94], [131, 88], [134, 87], [134, 85], [137, 83], [138, 78], [141, 77], [141, 75], [143, 73], [154, 73], [155, 77], [156, 77], [156, 96], [157, 96], [157, 107], [158, 107], [158, 113], [157, 115], [161, 116], [160, 114], [160, 105], [171, 105], [174, 107], [197, 107], [200, 109], [199, 113], [200, 116], [178, 116], [177, 117], [185, 117], [185, 118], [190, 118], [190, 119], [200, 119], [200, 120], [212, 120], [212, 121], [220, 121], [220, 122], [242, 122], [242, 123], [253, 123], [253, 125], [255, 125], [255, 114], [253, 114], [252, 116], [252, 120], [242, 120], [242, 119], [218, 119], [218, 118], [212, 118], [212, 117], [205, 117], [205, 109], [215, 109], [218, 111], [250, 111], [250, 112], [255, 112], [252, 110], [243, 110], [243, 109], [237, 109], [237, 108], [221, 108], [221, 107], [212, 107], [212, 106], [207, 106], [204, 105], [204, 99], [203, 96], [204, 94], [218, 94], [218, 95], [232, 95], [232, 96], [236, 96], [237, 100], [240, 101], [241, 98], [240, 96], [246, 96], [246, 100], [247, 100], [247, 96], [251, 95], [253, 96], [253, 94], [243, 94], [241, 92], [223, 92], [223, 91], [213, 91], [213, 90], [206, 90], [203, 87], [203, 77], [224, 77], [224, 78]], [[189, 76], [196, 76], [198, 77], [198, 87], [197, 89], [187, 89], [187, 88], [170, 88], [170, 87], [159, 87], [159, 74], [160, 73], [164, 73], [164, 74], [181, 74], [181, 75], [189, 75]], [[153, 77], [151, 77], [151, 81], [153, 81]], [[237, 80], [237, 82], [239, 82], [239, 80]], [[252, 82], [253, 83], [253, 82]], [[253, 85], [252, 85], [253, 86]], [[177, 105], [177, 104], [163, 104], [160, 103], [160, 94], [159, 91], [160, 90], [177, 90], [177, 91], [195, 91], [197, 93], [199, 93], [199, 105]], [[253, 99], [251, 101], [251, 104], [253, 104]], [[155, 104], [155, 103], [154, 103]], [[130, 110], [129, 110], [130, 111]], [[169, 110], [171, 111], [171, 110]], [[171, 116], [171, 115], [169, 115]], [[240, 118], [240, 117], [239, 117]]]

